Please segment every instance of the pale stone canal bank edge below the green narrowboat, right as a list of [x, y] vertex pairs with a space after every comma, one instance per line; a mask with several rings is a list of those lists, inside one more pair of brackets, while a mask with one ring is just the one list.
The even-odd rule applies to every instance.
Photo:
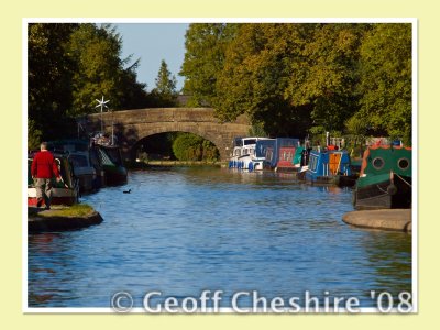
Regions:
[[351, 211], [342, 216], [342, 221], [361, 228], [413, 231], [411, 209]]

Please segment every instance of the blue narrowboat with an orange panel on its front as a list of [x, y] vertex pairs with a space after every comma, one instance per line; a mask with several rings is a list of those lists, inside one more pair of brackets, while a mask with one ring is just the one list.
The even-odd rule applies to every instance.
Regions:
[[312, 184], [338, 186], [354, 186], [356, 180], [345, 150], [311, 151], [305, 178]]

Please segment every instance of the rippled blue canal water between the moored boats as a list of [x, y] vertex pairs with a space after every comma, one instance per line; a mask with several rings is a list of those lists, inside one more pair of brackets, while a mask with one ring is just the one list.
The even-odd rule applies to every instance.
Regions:
[[131, 172], [128, 185], [81, 198], [101, 224], [29, 235], [29, 306], [110, 307], [113, 294], [128, 292], [142, 307], [153, 290], [157, 301], [222, 290], [221, 307], [230, 307], [235, 293], [256, 290], [286, 301], [305, 292], [356, 297], [371, 307], [372, 290], [410, 292], [411, 237], [344, 224], [351, 195], [289, 174]]

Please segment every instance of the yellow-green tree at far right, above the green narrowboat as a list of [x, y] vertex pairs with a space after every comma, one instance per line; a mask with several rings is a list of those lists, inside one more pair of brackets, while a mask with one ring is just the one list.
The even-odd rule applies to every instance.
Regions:
[[411, 25], [375, 24], [361, 47], [359, 116], [371, 130], [411, 141]]

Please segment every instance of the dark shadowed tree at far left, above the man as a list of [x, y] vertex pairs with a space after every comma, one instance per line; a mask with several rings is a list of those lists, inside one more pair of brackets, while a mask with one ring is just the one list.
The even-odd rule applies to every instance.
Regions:
[[[29, 129], [51, 140], [69, 131], [74, 64], [66, 53], [78, 24], [32, 23], [28, 25]], [[30, 132], [32, 133], [32, 131]]]

